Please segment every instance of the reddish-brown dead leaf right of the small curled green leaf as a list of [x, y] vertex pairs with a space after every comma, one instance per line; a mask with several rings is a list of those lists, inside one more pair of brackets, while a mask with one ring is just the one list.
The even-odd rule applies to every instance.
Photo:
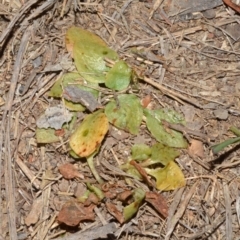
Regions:
[[149, 202], [164, 218], [168, 216], [168, 205], [165, 198], [156, 192], [147, 192], [145, 200]]

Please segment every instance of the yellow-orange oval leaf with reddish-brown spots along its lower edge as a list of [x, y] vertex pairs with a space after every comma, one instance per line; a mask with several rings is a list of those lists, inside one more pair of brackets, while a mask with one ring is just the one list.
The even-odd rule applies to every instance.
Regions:
[[101, 144], [108, 131], [108, 119], [101, 111], [89, 114], [70, 137], [70, 147], [80, 157], [88, 157]]

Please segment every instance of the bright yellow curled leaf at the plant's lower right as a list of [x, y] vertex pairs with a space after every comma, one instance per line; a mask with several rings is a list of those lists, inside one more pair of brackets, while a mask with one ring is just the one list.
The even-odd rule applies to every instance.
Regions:
[[148, 169], [146, 172], [156, 178], [156, 187], [158, 190], [170, 191], [184, 187], [186, 180], [178, 165], [171, 161], [164, 168]]

